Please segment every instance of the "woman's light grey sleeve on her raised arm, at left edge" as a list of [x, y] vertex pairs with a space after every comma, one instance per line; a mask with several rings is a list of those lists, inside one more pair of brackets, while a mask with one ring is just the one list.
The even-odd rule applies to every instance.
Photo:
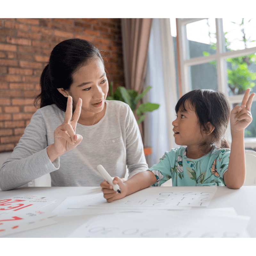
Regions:
[[2, 190], [18, 188], [31, 180], [58, 170], [59, 158], [51, 162], [46, 152], [47, 147], [47, 127], [38, 109], [12, 155], [0, 170], [0, 188]]

